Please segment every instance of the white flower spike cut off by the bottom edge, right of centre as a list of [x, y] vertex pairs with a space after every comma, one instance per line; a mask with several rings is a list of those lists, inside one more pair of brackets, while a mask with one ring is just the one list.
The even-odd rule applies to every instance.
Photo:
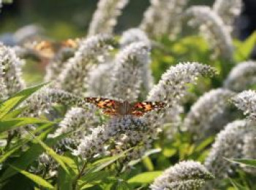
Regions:
[[200, 162], [183, 161], [168, 168], [151, 184], [152, 190], [198, 190], [214, 178]]

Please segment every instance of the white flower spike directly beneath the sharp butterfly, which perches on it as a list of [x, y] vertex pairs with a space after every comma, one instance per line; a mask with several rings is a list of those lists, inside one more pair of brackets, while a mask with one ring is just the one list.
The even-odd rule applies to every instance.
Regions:
[[74, 154], [80, 155], [83, 159], [91, 159], [102, 154], [115, 155], [133, 147], [127, 159], [137, 159], [151, 144], [147, 140], [146, 130], [146, 122], [138, 117], [113, 117], [108, 124], [95, 128], [91, 135], [80, 140]]

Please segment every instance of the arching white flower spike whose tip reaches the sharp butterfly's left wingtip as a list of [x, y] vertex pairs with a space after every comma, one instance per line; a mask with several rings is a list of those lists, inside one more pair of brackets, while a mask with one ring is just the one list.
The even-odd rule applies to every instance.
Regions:
[[26, 111], [23, 112], [23, 116], [39, 116], [42, 114], [42, 111], [48, 111], [55, 103], [65, 106], [88, 108], [88, 104], [83, 98], [79, 98], [63, 90], [49, 89], [48, 87], [35, 92], [20, 107], [27, 107]]

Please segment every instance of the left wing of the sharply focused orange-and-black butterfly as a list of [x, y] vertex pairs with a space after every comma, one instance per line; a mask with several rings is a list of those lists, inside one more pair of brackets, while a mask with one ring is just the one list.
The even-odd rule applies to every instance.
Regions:
[[104, 114], [115, 116], [117, 114], [118, 101], [108, 98], [85, 98], [86, 102], [93, 103], [101, 108]]

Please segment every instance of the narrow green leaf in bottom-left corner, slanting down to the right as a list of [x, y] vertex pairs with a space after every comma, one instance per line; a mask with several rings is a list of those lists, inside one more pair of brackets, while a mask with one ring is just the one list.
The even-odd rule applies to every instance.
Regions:
[[34, 183], [37, 183], [39, 186], [45, 187], [47, 189], [54, 189], [54, 187], [48, 183], [48, 181], [45, 181], [43, 178], [41, 178], [38, 175], [34, 175], [32, 173], [28, 173], [25, 170], [20, 170], [18, 169], [18, 167], [14, 167], [12, 165], [10, 165], [12, 168], [14, 168], [15, 170], [17, 170], [19, 173], [25, 175], [27, 178], [31, 179], [31, 181], [34, 181]]

